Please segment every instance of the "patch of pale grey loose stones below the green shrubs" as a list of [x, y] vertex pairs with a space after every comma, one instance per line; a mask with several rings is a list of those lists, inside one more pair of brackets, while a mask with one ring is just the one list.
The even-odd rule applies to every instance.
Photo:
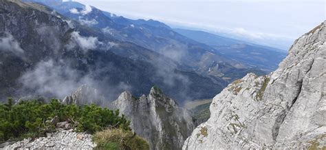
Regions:
[[47, 133], [47, 137], [25, 139], [3, 149], [93, 149], [94, 147], [96, 144], [91, 141], [90, 134], [60, 129], [55, 133]]

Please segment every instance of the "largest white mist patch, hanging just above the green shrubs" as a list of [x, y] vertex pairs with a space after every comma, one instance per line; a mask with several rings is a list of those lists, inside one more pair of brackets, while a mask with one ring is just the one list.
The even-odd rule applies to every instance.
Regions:
[[92, 85], [89, 76], [80, 76], [80, 72], [63, 61], [41, 61], [34, 69], [26, 72], [19, 79], [23, 89], [33, 89], [34, 94], [63, 98], [74, 92], [80, 85]]

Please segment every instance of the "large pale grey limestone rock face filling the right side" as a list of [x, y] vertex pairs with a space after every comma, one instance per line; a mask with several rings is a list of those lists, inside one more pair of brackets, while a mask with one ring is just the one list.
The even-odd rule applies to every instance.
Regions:
[[292, 45], [279, 69], [248, 74], [210, 105], [183, 149], [325, 148], [325, 22]]

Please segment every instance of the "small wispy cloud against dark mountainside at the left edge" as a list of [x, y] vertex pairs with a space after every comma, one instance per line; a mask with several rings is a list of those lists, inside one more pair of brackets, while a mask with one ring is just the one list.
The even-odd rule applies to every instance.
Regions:
[[24, 52], [18, 41], [8, 32], [0, 36], [0, 51], [12, 52], [16, 55], [21, 55]]

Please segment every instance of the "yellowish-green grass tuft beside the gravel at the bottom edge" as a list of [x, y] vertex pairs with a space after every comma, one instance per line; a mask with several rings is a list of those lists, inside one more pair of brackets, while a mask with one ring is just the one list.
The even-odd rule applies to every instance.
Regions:
[[149, 149], [149, 143], [132, 131], [122, 129], [106, 129], [95, 133], [96, 149]]

